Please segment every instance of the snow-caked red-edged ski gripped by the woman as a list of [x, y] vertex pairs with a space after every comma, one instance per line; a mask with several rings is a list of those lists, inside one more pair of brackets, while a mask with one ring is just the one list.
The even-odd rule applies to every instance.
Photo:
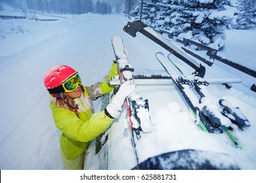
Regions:
[[[133, 80], [134, 69], [128, 62], [128, 52], [125, 49], [121, 37], [116, 36], [112, 38], [112, 47], [116, 57], [117, 69], [119, 71], [119, 80], [121, 81], [121, 84], [129, 82], [130, 84], [135, 85]], [[142, 99], [139, 93], [135, 91], [125, 99], [125, 105], [127, 108], [127, 120], [129, 122], [129, 129], [131, 131], [131, 142], [135, 150], [137, 164], [139, 164], [135, 135], [137, 139], [140, 139], [140, 131], [152, 131], [148, 99]]]

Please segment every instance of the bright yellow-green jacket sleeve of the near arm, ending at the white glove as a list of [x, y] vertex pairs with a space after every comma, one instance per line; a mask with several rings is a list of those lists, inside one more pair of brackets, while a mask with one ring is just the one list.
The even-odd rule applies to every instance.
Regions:
[[108, 118], [104, 111], [96, 112], [89, 120], [85, 120], [78, 118], [74, 112], [66, 108], [59, 108], [51, 104], [51, 109], [56, 127], [75, 141], [92, 141], [104, 132], [114, 120]]

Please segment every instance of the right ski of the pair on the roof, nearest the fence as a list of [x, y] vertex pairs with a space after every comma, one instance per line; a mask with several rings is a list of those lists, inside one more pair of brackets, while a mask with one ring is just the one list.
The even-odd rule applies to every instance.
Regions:
[[[206, 99], [207, 103], [211, 103], [211, 105], [220, 105], [221, 114], [223, 114], [223, 116], [228, 118], [233, 124], [236, 124], [240, 129], [242, 129], [242, 127], [250, 126], [249, 121], [244, 116], [244, 114], [242, 114], [242, 111], [240, 110], [239, 107], [236, 107], [236, 108], [233, 107], [225, 99], [220, 99], [218, 103], [213, 103], [213, 101], [211, 101], [210, 99], [207, 99], [207, 97], [212, 98], [212, 96], [209, 95], [209, 92], [207, 90], [207, 86], [209, 85], [209, 83], [206, 80], [204, 80], [203, 78], [200, 78], [199, 76], [192, 76], [192, 77], [188, 78], [188, 76], [184, 75], [184, 73], [181, 71], [181, 69], [179, 69], [179, 67], [177, 66], [177, 63], [175, 63], [171, 59], [171, 54], [169, 54], [167, 56], [167, 58], [173, 64], [173, 66], [177, 69], [177, 71], [179, 71], [181, 73], [181, 75], [183, 75], [188, 80], [190, 80], [190, 82], [193, 83], [194, 90], [200, 96], [201, 103], [203, 100], [205, 101], [205, 99]], [[203, 88], [203, 91], [206, 91], [208, 94], [205, 94], [204, 92], [202, 92], [202, 88]], [[217, 101], [217, 99], [216, 99], [216, 101]], [[215, 112], [216, 111], [217, 110], [215, 110]]]

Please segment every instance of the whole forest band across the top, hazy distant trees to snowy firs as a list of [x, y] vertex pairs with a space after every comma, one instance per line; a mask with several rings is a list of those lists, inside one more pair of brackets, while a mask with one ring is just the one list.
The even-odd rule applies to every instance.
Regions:
[[[26, 12], [125, 14], [172, 36], [224, 46], [226, 29], [256, 29], [256, 0], [0, 0]], [[1, 10], [1, 4], [0, 4]]]

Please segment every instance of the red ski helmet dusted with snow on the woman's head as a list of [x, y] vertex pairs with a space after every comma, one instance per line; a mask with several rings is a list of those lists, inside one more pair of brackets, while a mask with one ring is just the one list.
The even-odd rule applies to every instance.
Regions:
[[43, 83], [49, 93], [63, 93], [65, 90], [61, 84], [76, 73], [77, 71], [67, 65], [58, 65], [47, 71]]

